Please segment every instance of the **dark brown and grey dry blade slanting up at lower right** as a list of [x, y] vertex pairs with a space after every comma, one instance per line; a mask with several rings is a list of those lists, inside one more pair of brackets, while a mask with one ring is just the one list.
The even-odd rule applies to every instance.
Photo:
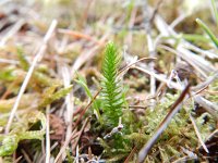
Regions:
[[186, 98], [186, 95], [189, 93], [190, 85], [185, 87], [185, 89], [182, 91], [178, 100], [171, 105], [170, 112], [167, 114], [167, 116], [164, 118], [164, 121], [160, 123], [158, 129], [153, 135], [153, 137], [148, 140], [148, 142], [141, 149], [138, 153], [138, 162], [143, 163], [145, 158], [147, 156], [149, 150], [155, 145], [161, 133], [167, 128], [170, 121], [173, 118], [173, 116], [180, 111], [182, 106], [182, 101]]

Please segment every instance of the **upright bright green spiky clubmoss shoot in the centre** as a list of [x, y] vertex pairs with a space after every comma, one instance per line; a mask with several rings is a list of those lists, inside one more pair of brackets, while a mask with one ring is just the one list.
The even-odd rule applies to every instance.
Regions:
[[118, 78], [120, 55], [113, 42], [109, 42], [105, 50], [102, 64], [102, 99], [106, 124], [111, 127], [118, 126], [122, 115], [123, 93]]

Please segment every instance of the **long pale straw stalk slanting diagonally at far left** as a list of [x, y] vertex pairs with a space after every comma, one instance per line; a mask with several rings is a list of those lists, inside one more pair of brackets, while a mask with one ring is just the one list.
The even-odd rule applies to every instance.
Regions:
[[9, 117], [9, 122], [8, 122], [7, 127], [5, 127], [5, 134], [8, 134], [8, 133], [10, 131], [10, 127], [11, 127], [13, 117], [15, 116], [16, 110], [17, 110], [17, 108], [19, 108], [21, 98], [22, 98], [22, 96], [23, 96], [23, 93], [24, 93], [24, 91], [25, 91], [25, 89], [26, 89], [26, 87], [27, 87], [27, 85], [28, 85], [28, 82], [29, 82], [29, 79], [31, 79], [31, 77], [32, 77], [32, 74], [33, 74], [33, 72], [34, 72], [34, 68], [35, 68], [35, 66], [36, 66], [38, 60], [44, 55], [44, 53], [45, 53], [45, 51], [46, 51], [48, 40], [49, 40], [49, 38], [51, 37], [51, 35], [52, 35], [52, 33], [53, 33], [53, 30], [55, 30], [57, 24], [58, 24], [58, 22], [57, 22], [56, 20], [52, 21], [52, 23], [51, 23], [51, 25], [50, 25], [50, 27], [49, 27], [49, 29], [48, 29], [46, 36], [44, 37], [44, 42], [43, 42], [40, 49], [38, 50], [36, 57], [34, 58], [34, 61], [33, 61], [33, 63], [32, 63], [32, 65], [31, 65], [31, 67], [29, 67], [29, 70], [28, 70], [28, 72], [27, 72], [27, 74], [26, 74], [26, 77], [25, 77], [25, 79], [24, 79], [24, 82], [23, 82], [23, 84], [22, 84], [22, 86], [21, 86], [20, 91], [19, 91], [16, 101], [15, 101], [13, 108], [12, 108], [11, 115], [10, 115], [10, 117]]

